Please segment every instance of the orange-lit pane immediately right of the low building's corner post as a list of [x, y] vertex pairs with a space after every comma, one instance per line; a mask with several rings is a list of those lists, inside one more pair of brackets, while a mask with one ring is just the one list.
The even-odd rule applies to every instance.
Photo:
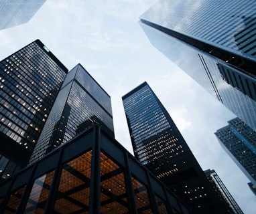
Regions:
[[128, 211], [123, 169], [101, 152], [101, 213]]

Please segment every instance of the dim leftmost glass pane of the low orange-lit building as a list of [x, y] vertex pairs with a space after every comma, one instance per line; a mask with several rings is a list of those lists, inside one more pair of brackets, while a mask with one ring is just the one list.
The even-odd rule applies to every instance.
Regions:
[[21, 200], [24, 190], [25, 190], [25, 185], [11, 192], [11, 197], [9, 198], [9, 201], [3, 213], [5, 214], [15, 213], [15, 211], [17, 210], [17, 207], [19, 206], [19, 201]]

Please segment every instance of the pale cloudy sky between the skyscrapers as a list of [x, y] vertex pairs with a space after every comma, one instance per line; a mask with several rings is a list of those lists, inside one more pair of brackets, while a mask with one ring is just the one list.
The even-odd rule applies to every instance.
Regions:
[[139, 16], [155, 0], [47, 0], [23, 25], [0, 31], [0, 60], [40, 39], [71, 70], [78, 63], [111, 96], [115, 137], [131, 153], [121, 97], [147, 81], [203, 170], [214, 169], [244, 213], [255, 213], [249, 180], [214, 136], [235, 118], [149, 43]]

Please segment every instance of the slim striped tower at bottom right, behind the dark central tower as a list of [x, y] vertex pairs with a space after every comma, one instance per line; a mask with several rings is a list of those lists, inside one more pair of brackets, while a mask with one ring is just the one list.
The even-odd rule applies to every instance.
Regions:
[[223, 203], [225, 203], [225, 205], [230, 209], [230, 213], [243, 214], [243, 211], [241, 211], [239, 205], [237, 205], [237, 202], [235, 199], [233, 199], [227, 187], [224, 185], [224, 183], [222, 183], [220, 177], [218, 177], [218, 174], [214, 170], [210, 169], [204, 171], [204, 174], [218, 194], [220, 200], [223, 201]]

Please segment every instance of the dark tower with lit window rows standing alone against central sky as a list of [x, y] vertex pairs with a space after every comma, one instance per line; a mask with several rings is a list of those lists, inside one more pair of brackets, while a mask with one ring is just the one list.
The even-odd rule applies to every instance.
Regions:
[[144, 82], [123, 96], [135, 157], [196, 213], [226, 213], [174, 121]]

